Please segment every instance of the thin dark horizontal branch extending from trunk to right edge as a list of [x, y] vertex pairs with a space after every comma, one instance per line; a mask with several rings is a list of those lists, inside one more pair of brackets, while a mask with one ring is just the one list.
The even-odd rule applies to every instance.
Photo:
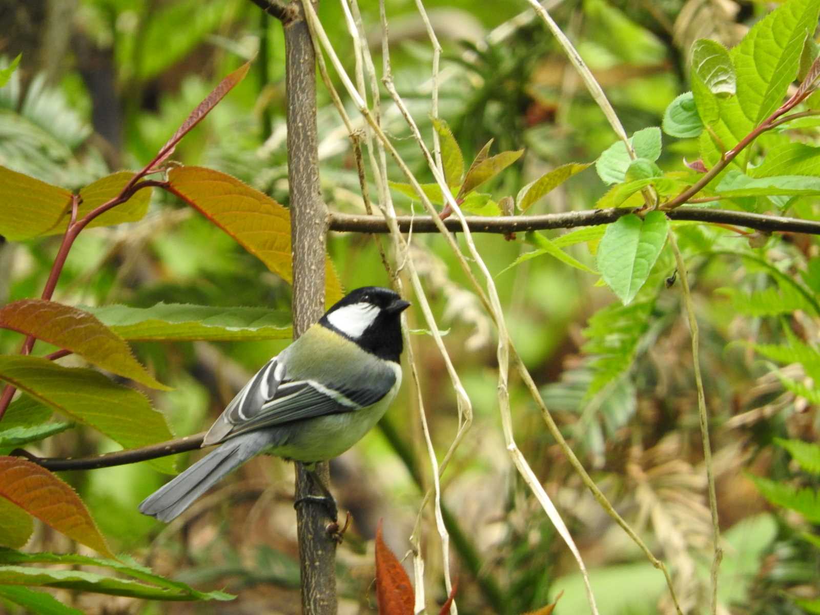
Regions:
[[[576, 226], [594, 226], [609, 224], [621, 216], [634, 212], [626, 207], [612, 209], [593, 209], [583, 212], [547, 213], [541, 216], [466, 216], [467, 225], [472, 233], [508, 233], [526, 230], [571, 229]], [[745, 226], [749, 229], [763, 230], [768, 233], [790, 232], [820, 235], [820, 222], [768, 216], [759, 213], [732, 212], [725, 209], [707, 209], [704, 207], [677, 207], [666, 212], [671, 220], [690, 220], [710, 222], [713, 224], [731, 224]], [[435, 222], [430, 216], [398, 216], [399, 230], [413, 233], [437, 233]], [[444, 225], [451, 231], [461, 230], [461, 222], [448, 218]], [[352, 231], [358, 233], [389, 233], [387, 222], [382, 216], [358, 216], [345, 213], [330, 214], [330, 230]]]

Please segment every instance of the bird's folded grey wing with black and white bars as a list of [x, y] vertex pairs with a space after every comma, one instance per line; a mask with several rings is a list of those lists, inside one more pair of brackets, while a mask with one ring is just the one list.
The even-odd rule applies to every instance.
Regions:
[[207, 432], [203, 446], [291, 421], [353, 412], [379, 401], [395, 381], [395, 373], [389, 368], [371, 371], [367, 383], [358, 380], [355, 388], [307, 378], [288, 380], [284, 367], [273, 358], [228, 404]]

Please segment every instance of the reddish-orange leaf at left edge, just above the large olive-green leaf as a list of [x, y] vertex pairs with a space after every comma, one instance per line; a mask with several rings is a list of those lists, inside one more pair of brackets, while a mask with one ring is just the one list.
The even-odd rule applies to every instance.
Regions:
[[0, 327], [34, 335], [77, 353], [104, 370], [154, 389], [169, 388], [153, 379], [119, 335], [83, 310], [42, 299], [23, 299], [0, 308]]

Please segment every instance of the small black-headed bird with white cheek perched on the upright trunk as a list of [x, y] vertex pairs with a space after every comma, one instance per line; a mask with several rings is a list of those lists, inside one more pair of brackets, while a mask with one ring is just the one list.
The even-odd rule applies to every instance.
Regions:
[[228, 403], [202, 444], [219, 446], [144, 499], [139, 512], [170, 522], [259, 453], [312, 470], [356, 444], [401, 385], [401, 313], [409, 306], [379, 286], [339, 299]]

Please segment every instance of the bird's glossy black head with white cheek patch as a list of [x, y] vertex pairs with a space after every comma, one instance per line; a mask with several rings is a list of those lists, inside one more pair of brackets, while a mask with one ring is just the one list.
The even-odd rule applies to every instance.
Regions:
[[364, 286], [339, 299], [319, 322], [368, 353], [399, 362], [403, 349], [401, 313], [409, 305], [390, 289]]

